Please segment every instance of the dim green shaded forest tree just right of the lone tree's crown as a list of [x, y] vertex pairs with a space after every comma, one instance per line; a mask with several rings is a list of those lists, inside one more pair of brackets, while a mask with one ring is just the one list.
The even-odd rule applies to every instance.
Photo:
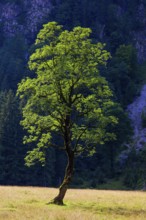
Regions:
[[106, 69], [118, 102], [125, 108], [137, 94], [139, 82], [136, 51], [131, 45], [120, 45]]

